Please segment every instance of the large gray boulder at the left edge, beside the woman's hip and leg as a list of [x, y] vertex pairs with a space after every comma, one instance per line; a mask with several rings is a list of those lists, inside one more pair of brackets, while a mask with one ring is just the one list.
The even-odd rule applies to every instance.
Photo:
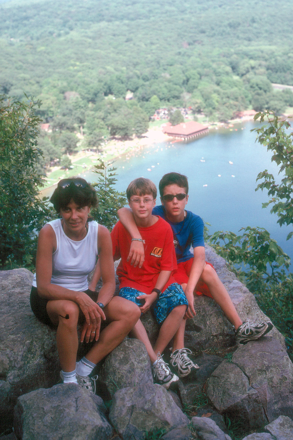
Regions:
[[0, 431], [11, 424], [18, 396], [58, 381], [55, 332], [31, 311], [32, 281], [27, 269], [0, 271]]

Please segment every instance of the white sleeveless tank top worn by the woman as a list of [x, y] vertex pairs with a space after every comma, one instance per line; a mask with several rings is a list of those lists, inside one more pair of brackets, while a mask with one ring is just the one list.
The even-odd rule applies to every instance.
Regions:
[[[87, 290], [87, 275], [94, 270], [98, 256], [98, 223], [90, 221], [87, 235], [79, 242], [67, 237], [60, 219], [48, 224], [54, 229], [57, 241], [52, 259], [51, 283], [79, 292]], [[33, 286], [36, 287], [36, 274]]]

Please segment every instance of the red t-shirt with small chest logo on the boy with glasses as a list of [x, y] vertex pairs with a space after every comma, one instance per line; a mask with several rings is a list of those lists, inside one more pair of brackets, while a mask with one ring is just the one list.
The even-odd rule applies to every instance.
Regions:
[[[133, 287], [143, 293], [152, 293], [160, 271], [174, 271], [177, 268], [176, 254], [173, 243], [173, 232], [170, 225], [158, 217], [158, 221], [149, 227], [138, 227], [145, 240], [145, 261], [141, 268], [134, 268], [127, 257], [130, 250], [131, 235], [119, 221], [111, 232], [114, 261], [121, 261], [116, 273], [119, 278], [120, 289]], [[166, 290], [175, 279], [172, 274], [162, 289]]]

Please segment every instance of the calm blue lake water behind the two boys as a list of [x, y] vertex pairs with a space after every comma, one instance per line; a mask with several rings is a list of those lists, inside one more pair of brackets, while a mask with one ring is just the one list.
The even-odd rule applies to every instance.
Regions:
[[[166, 172], [185, 174], [189, 183], [186, 208], [211, 224], [210, 233], [237, 234], [241, 227], [264, 227], [293, 260], [292, 239], [286, 242], [292, 227], [281, 228], [270, 207], [262, 209], [267, 192], [255, 191], [257, 174], [268, 169], [277, 179], [278, 168], [266, 148], [255, 143], [257, 135], [250, 131], [254, 127], [247, 122], [220, 128], [190, 142], [160, 143], [117, 159], [117, 189], [125, 191], [136, 177], [147, 177], [158, 187]], [[84, 175], [92, 182], [96, 176], [92, 172]]]

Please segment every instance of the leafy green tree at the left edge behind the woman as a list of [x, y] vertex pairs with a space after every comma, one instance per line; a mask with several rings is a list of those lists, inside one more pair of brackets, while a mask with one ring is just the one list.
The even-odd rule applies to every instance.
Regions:
[[36, 172], [38, 103], [0, 96], [0, 267], [7, 261], [29, 266], [36, 230], [46, 214], [38, 197], [42, 176]]

